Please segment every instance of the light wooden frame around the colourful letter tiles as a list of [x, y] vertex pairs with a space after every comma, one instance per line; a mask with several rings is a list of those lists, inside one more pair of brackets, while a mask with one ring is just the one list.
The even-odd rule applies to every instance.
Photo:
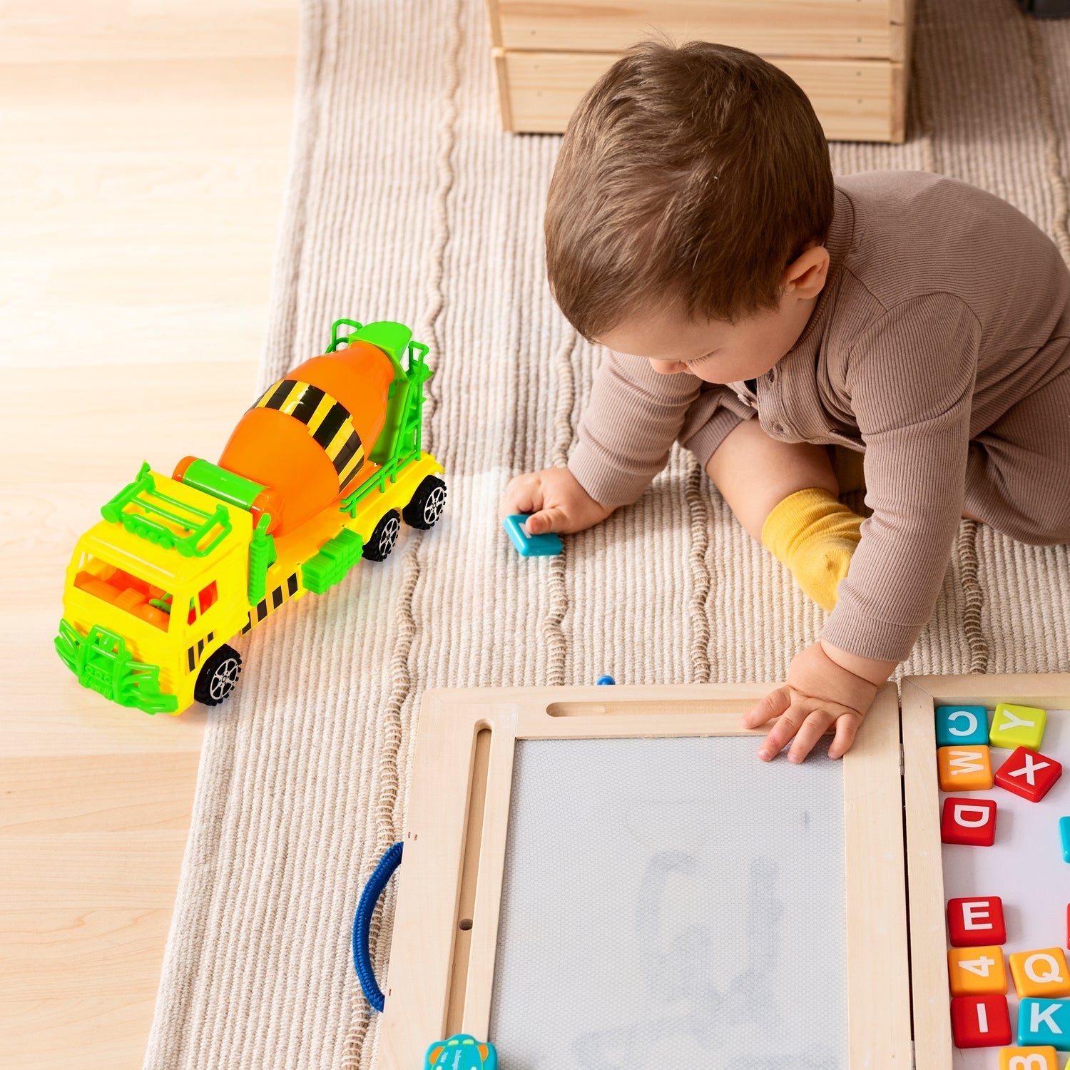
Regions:
[[1070, 708], [1070, 673], [906, 676], [902, 683], [900, 705], [917, 1070], [951, 1070], [952, 1061], [934, 709], [951, 705], [991, 708], [998, 702], [1044, 709]]

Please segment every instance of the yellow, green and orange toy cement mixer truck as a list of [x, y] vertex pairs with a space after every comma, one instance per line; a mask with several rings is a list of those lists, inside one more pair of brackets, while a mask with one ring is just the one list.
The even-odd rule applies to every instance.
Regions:
[[421, 445], [426, 354], [400, 323], [338, 320], [218, 464], [144, 463], [67, 568], [56, 649], [78, 682], [147, 714], [217, 705], [242, 666], [228, 639], [382, 561], [401, 520], [431, 528], [446, 485]]

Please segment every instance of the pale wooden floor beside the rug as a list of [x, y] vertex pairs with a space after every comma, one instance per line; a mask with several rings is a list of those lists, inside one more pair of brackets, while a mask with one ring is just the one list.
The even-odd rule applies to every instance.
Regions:
[[205, 714], [82, 690], [77, 535], [250, 400], [297, 0], [0, 3], [0, 1061], [139, 1067]]

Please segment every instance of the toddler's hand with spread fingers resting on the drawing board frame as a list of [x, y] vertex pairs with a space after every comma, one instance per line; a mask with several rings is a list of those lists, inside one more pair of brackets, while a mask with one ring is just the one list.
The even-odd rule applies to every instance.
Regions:
[[788, 670], [788, 682], [748, 710], [743, 724], [756, 729], [779, 717], [758, 756], [763, 762], [770, 761], [794, 736], [788, 761], [801, 762], [835, 722], [836, 736], [828, 756], [841, 758], [851, 749], [876, 691], [875, 684], [838, 666], [819, 640], [795, 655]]

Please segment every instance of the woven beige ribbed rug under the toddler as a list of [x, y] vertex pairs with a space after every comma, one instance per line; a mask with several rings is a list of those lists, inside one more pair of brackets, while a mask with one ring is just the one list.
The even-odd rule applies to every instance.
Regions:
[[[485, 18], [482, 0], [304, 3], [261, 385], [321, 352], [337, 317], [413, 324], [437, 369], [427, 438], [450, 500], [438, 529], [244, 643], [243, 688], [204, 742], [151, 1070], [373, 1066], [349, 929], [401, 834], [426, 687], [774, 679], [822, 625], [683, 455], [564, 556], [508, 545], [506, 480], [564, 461], [597, 353], [544, 281], [557, 138], [499, 133]], [[1070, 21], [923, 0], [916, 50], [908, 143], [834, 146], [838, 171], [965, 179], [1070, 260]], [[906, 671], [1066, 671], [1068, 627], [1067, 548], [964, 523]], [[380, 977], [392, 917], [387, 896]]]

